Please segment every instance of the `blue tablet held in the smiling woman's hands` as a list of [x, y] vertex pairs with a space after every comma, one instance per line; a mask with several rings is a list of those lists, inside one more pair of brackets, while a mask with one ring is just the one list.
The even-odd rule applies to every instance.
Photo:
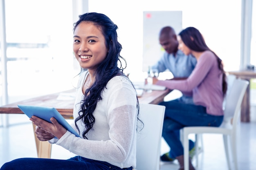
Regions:
[[52, 123], [50, 119], [51, 117], [54, 117], [58, 121], [58, 123], [61, 124], [64, 128], [76, 135], [76, 137], [80, 137], [79, 134], [70, 126], [70, 124], [67, 123], [64, 117], [58, 112], [58, 110], [56, 110], [56, 108], [43, 106], [28, 106], [20, 104], [18, 104], [17, 106], [29, 118], [34, 115], [36, 117], [44, 119], [45, 121], [48, 121], [49, 123]]

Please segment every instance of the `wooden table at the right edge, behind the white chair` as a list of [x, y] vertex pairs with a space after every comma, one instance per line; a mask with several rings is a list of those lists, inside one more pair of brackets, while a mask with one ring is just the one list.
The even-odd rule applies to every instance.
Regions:
[[[236, 75], [237, 78], [246, 79], [250, 83], [250, 79], [256, 78], [256, 71], [243, 70], [243, 71], [229, 71], [231, 75]], [[250, 84], [245, 92], [243, 102], [241, 105], [241, 121], [250, 122]]]

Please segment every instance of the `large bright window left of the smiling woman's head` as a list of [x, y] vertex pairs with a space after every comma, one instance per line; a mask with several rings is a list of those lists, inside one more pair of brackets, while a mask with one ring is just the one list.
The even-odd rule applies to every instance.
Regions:
[[71, 89], [72, 1], [6, 0], [5, 12], [9, 103]]

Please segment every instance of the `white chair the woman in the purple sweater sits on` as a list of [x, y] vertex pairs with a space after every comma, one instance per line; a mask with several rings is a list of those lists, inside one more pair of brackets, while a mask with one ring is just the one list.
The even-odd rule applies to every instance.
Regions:
[[229, 158], [228, 136], [230, 137], [231, 154], [234, 161], [235, 170], [237, 167], [236, 153], [236, 133], [240, 118], [241, 103], [249, 82], [243, 79], [234, 80], [230, 92], [227, 95], [224, 110], [224, 120], [220, 127], [209, 126], [189, 126], [183, 128], [183, 146], [184, 146], [184, 170], [189, 170], [189, 134], [217, 133], [223, 135], [225, 152], [227, 157], [228, 168], [231, 170]]

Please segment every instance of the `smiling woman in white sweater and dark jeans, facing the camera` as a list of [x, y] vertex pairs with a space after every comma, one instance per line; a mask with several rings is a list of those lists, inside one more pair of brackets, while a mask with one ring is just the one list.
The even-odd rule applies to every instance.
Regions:
[[[118, 63], [118, 27], [101, 13], [79, 15], [74, 25], [73, 51], [81, 67], [76, 87], [72, 128], [77, 137], [52, 117], [32, 116], [36, 137], [77, 156], [67, 160], [20, 158], [0, 170], [132, 170], [136, 167], [137, 130], [143, 128], [132, 82]], [[86, 71], [84, 71], [86, 69]], [[39, 170], [38, 169], [38, 170]]]

